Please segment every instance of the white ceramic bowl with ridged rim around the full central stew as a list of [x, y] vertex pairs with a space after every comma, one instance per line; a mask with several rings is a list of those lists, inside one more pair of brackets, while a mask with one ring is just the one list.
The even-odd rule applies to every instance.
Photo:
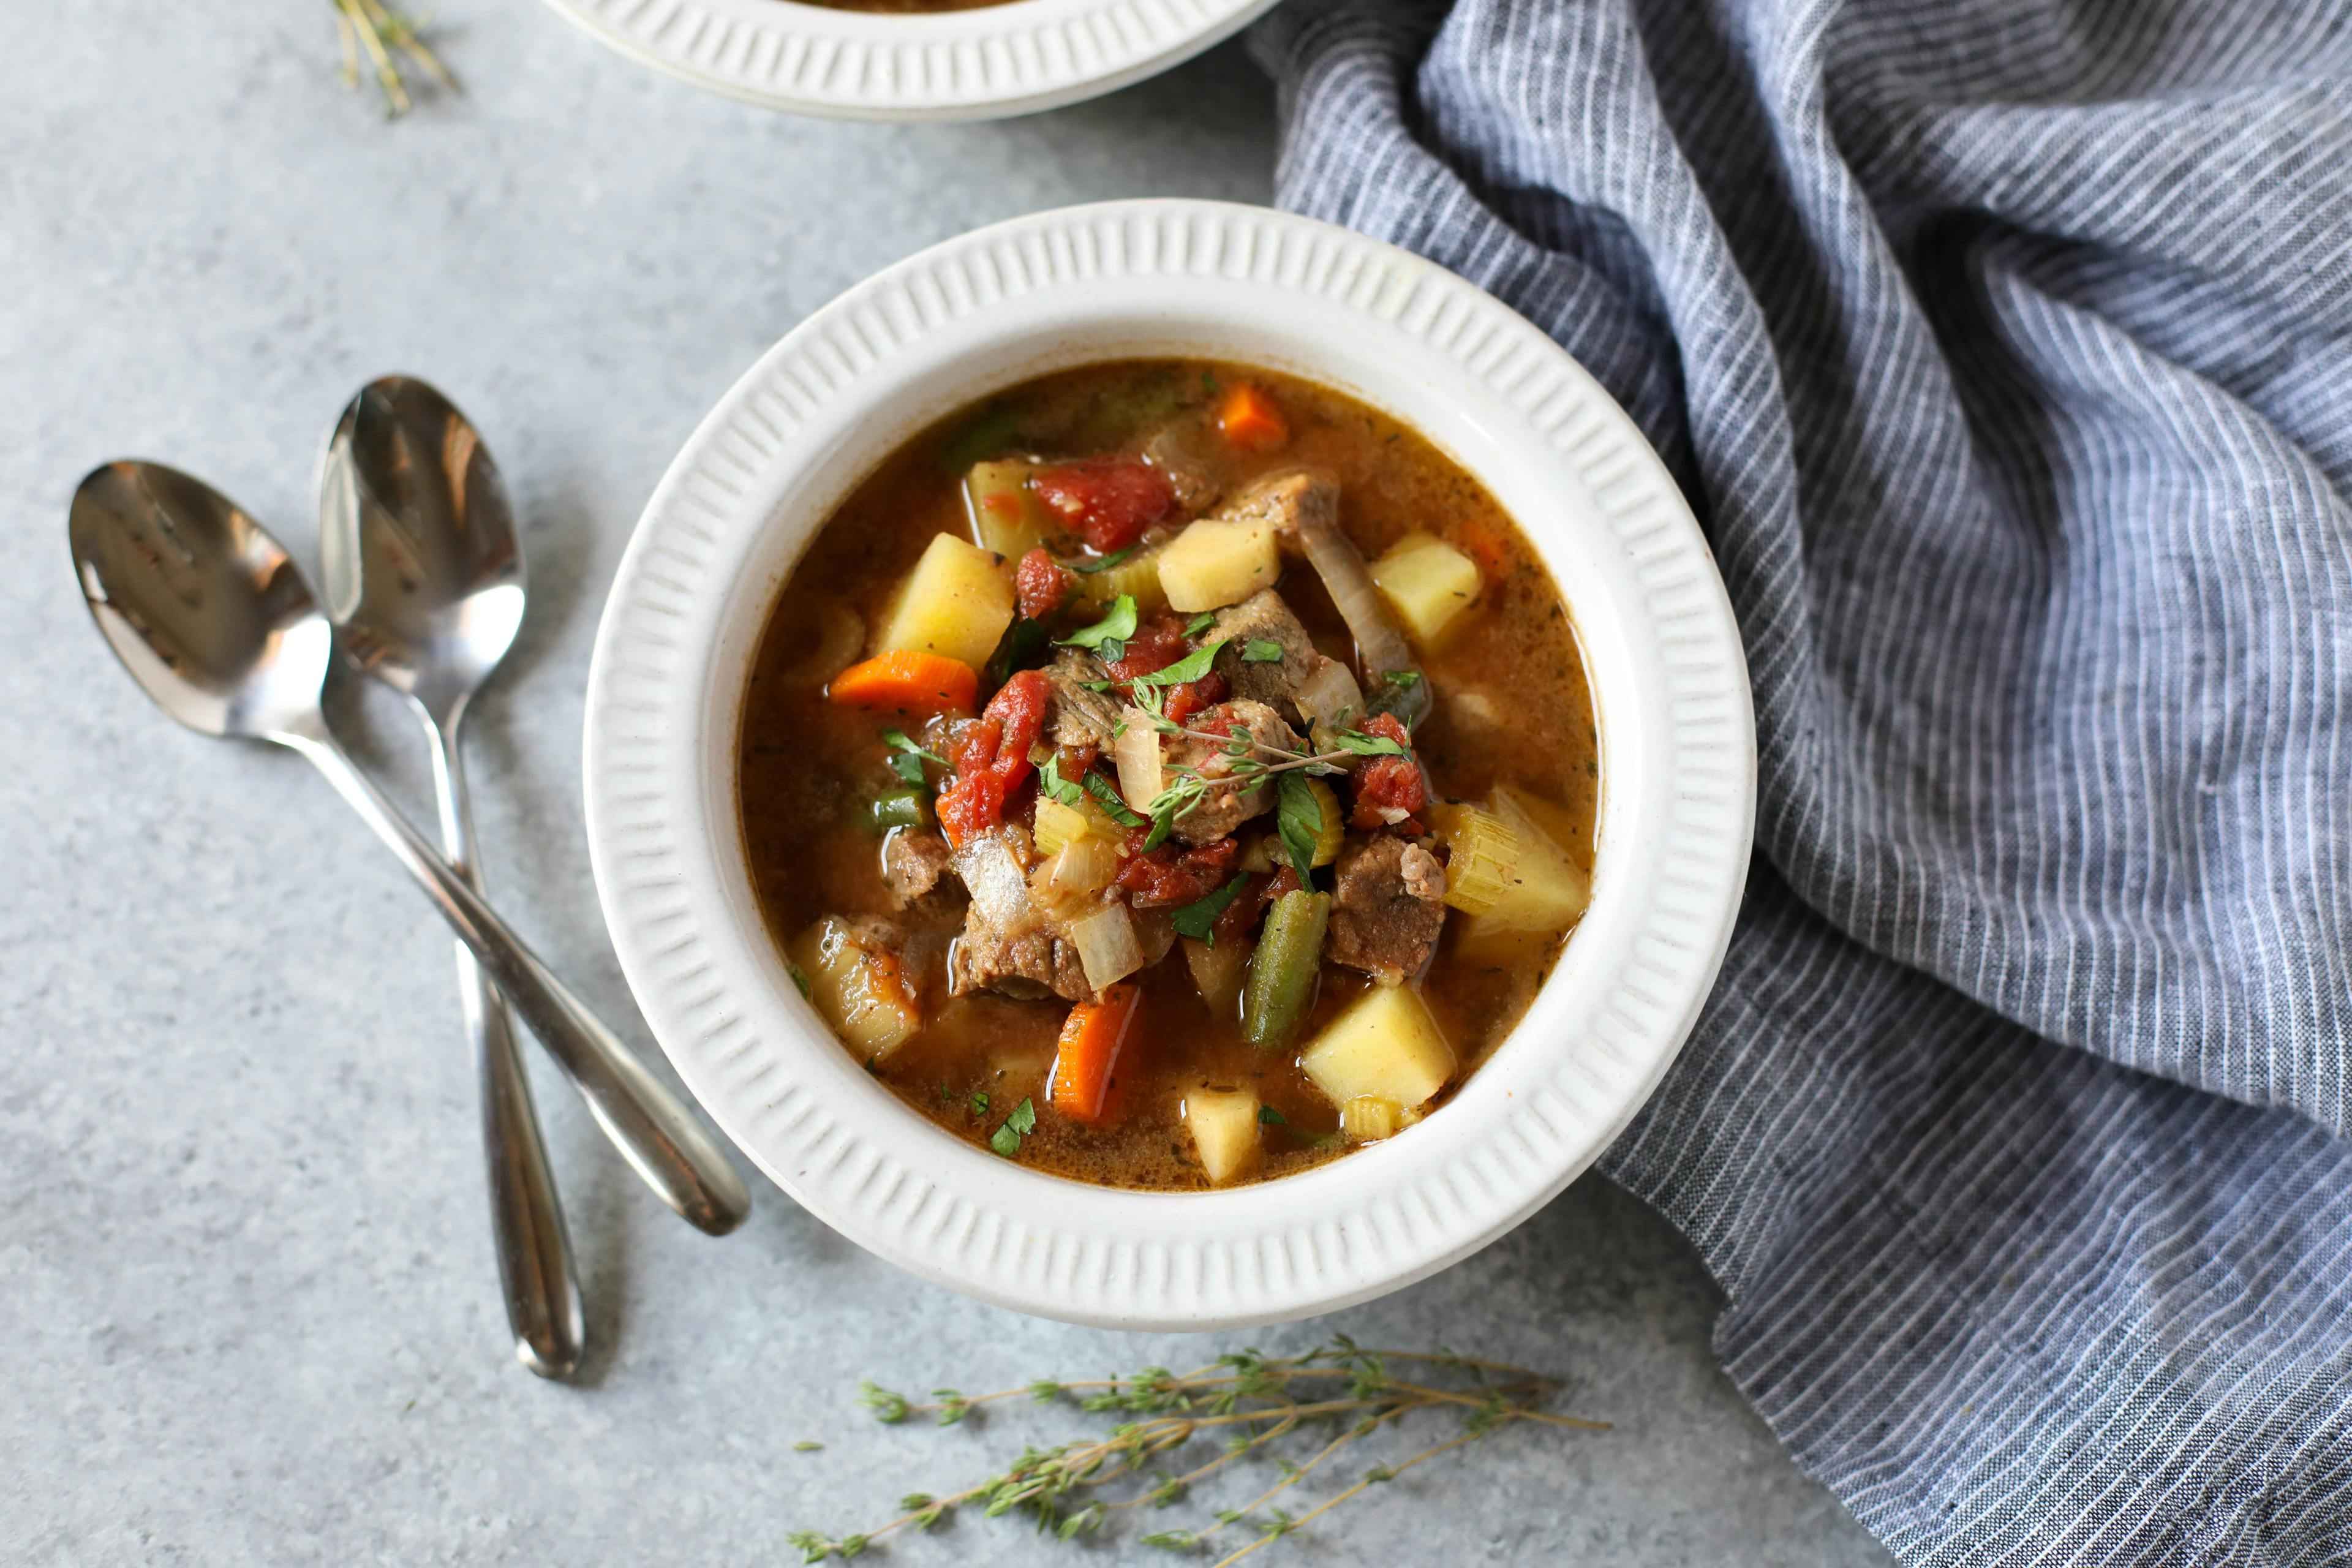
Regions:
[[[1136, 355], [1294, 371], [1435, 440], [1559, 578], [1599, 705], [1592, 910], [1526, 1020], [1399, 1138], [1225, 1192], [1042, 1175], [901, 1105], [786, 976], [736, 809], [753, 649], [833, 505], [976, 397]], [[687, 1086], [776, 1185], [882, 1258], [990, 1302], [1225, 1328], [1442, 1269], [1616, 1138], [1731, 936], [1755, 729], [1698, 524], [1573, 360], [1402, 249], [1256, 207], [1152, 200], [936, 244], [750, 367], [677, 454], [621, 559], [588, 677], [586, 790], [630, 990]]]

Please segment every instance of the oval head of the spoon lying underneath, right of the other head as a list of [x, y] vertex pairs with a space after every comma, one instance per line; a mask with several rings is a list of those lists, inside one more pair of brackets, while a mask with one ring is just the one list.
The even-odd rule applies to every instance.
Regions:
[[489, 447], [440, 390], [381, 376], [343, 407], [318, 557], [343, 651], [454, 726], [522, 625], [522, 541]]

